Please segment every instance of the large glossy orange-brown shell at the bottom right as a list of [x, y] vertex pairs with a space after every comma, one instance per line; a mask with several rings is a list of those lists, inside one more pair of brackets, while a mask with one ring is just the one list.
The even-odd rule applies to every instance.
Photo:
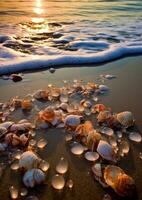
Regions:
[[135, 183], [132, 177], [114, 165], [108, 165], [104, 170], [104, 179], [120, 196], [132, 196], [135, 191]]

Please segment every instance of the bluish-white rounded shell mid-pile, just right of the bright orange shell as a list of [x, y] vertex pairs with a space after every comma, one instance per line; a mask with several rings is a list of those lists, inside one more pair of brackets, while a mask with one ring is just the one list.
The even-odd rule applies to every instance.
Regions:
[[78, 126], [80, 124], [80, 118], [81, 116], [79, 115], [68, 115], [65, 118], [64, 123], [67, 126]]

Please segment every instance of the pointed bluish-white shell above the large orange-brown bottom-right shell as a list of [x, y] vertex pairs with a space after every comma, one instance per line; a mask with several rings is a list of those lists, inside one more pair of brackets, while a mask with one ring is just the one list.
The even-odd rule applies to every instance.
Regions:
[[113, 148], [110, 146], [109, 143], [107, 143], [104, 140], [100, 140], [98, 147], [97, 147], [97, 152], [99, 155], [104, 158], [105, 160], [109, 161], [115, 161], [115, 153]]

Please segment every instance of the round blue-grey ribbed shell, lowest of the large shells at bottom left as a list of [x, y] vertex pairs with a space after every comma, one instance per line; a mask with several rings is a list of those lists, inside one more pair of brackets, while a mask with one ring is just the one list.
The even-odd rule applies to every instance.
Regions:
[[45, 180], [45, 174], [40, 169], [30, 169], [23, 177], [23, 183], [26, 187], [33, 188], [35, 185], [43, 183]]

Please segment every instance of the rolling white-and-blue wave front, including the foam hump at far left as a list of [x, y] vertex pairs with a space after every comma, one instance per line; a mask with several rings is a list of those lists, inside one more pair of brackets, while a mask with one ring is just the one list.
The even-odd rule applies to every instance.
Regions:
[[[85, 43], [87, 45], [87, 43]], [[102, 43], [100, 43], [102, 46]], [[111, 45], [96, 53], [66, 52], [53, 53], [51, 55], [26, 55], [17, 53], [9, 48], [2, 47], [0, 51], [0, 75], [16, 73], [28, 70], [48, 69], [50, 67], [62, 67], [64, 65], [101, 64], [124, 56], [142, 54], [142, 45], [128, 44]]]

